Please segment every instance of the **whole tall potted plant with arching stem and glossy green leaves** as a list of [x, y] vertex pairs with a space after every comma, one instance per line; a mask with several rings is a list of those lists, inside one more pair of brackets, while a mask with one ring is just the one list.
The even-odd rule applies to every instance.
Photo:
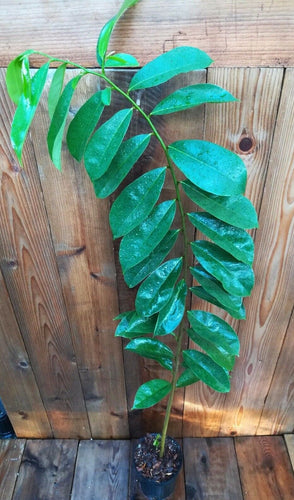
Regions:
[[[148, 435], [135, 452], [138, 473], [145, 477], [144, 484], [148, 483], [143, 485], [145, 493], [164, 498], [170, 494], [170, 479], [182, 461], [177, 445], [167, 438], [175, 391], [200, 380], [216, 391], [228, 392], [230, 371], [239, 353], [233, 328], [215, 314], [189, 310], [187, 297], [192, 293], [233, 318], [245, 319], [243, 297], [250, 295], [254, 284], [254, 245], [246, 230], [258, 223], [254, 207], [244, 196], [246, 169], [235, 153], [202, 140], [166, 144], [154, 124], [154, 116], [237, 99], [216, 85], [190, 85], [168, 95], [147, 114], [135, 98], [138, 90], [161, 85], [181, 73], [207, 68], [212, 61], [205, 52], [194, 47], [172, 49], [139, 69], [128, 89], [109, 77], [109, 67], [139, 66], [129, 54], [108, 52], [117, 21], [137, 2], [124, 0], [119, 12], [102, 28], [97, 43], [99, 70], [28, 50], [9, 64], [6, 81], [9, 95], [17, 105], [11, 142], [20, 163], [50, 63], [60, 63], [49, 91], [47, 136], [48, 151], [58, 169], [71, 98], [87, 74], [102, 80], [105, 88], [80, 107], [68, 126], [66, 141], [71, 155], [78, 162], [84, 161], [96, 195], [105, 198], [116, 192], [150, 141], [157, 141], [163, 150], [165, 165], [156, 166], [126, 185], [111, 206], [109, 220], [113, 237], [121, 239], [119, 259], [126, 284], [138, 287], [135, 310], [124, 311], [116, 318], [119, 323], [115, 335], [128, 340], [125, 349], [151, 358], [166, 369], [165, 378], [149, 380], [138, 388], [133, 404], [133, 409], [144, 409], [167, 397], [161, 434]], [[31, 76], [29, 56], [36, 53], [44, 56], [46, 62]], [[80, 73], [64, 86], [68, 65]], [[125, 106], [100, 124], [103, 110], [111, 108], [113, 93], [121, 96]], [[134, 111], [144, 119], [148, 130], [125, 139]], [[167, 176], [172, 180], [174, 194], [159, 202]], [[185, 196], [195, 203], [195, 210], [190, 213], [184, 210]], [[175, 226], [176, 214], [180, 222]], [[189, 241], [189, 225], [205, 239]], [[178, 238], [182, 239], [181, 252], [170, 258]], [[190, 249], [195, 258], [193, 265]], [[195, 286], [190, 286], [192, 278]], [[171, 336], [174, 348], [165, 342]], [[187, 338], [193, 344], [185, 349]], [[150, 480], [155, 492], [150, 492]], [[167, 490], [163, 491], [165, 485]]]

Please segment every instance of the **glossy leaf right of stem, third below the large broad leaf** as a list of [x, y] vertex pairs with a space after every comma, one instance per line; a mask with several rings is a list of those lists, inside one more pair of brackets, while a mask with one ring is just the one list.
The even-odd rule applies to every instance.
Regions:
[[239, 262], [230, 254], [208, 241], [191, 243], [192, 251], [200, 264], [219, 280], [232, 295], [248, 296], [254, 285], [252, 268]]

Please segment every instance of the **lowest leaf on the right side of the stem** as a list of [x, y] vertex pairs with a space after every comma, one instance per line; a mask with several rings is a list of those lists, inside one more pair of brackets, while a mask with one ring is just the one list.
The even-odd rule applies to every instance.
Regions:
[[229, 373], [215, 363], [209, 356], [199, 351], [188, 349], [183, 351], [183, 358], [187, 366], [196, 377], [218, 392], [230, 391]]

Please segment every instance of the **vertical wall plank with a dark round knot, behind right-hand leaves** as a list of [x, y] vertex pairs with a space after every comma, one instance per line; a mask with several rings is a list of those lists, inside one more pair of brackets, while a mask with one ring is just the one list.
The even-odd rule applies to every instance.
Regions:
[[[208, 72], [210, 83], [226, 88], [241, 102], [207, 105], [205, 139], [240, 154], [248, 172], [246, 196], [251, 199], [257, 211], [260, 208], [266, 179], [282, 78], [283, 72], [279, 69], [225, 68], [211, 69]], [[252, 142], [252, 147], [248, 151], [241, 149], [244, 137]], [[260, 226], [262, 227], [262, 222]], [[266, 273], [259, 271], [257, 266], [255, 267], [258, 283], [264, 279]], [[228, 396], [219, 394], [201, 383], [187, 387], [184, 412], [184, 435], [186, 436], [213, 436], [218, 435], [219, 432], [223, 435], [230, 435], [231, 432], [237, 432], [238, 425], [240, 425], [238, 414], [240, 407], [245, 413], [243, 432], [246, 432], [247, 408], [248, 412], [251, 412], [252, 407], [258, 412], [261, 411], [263, 402], [260, 403], [261, 407], [257, 407], [252, 405], [250, 397], [248, 401], [243, 400], [239, 403], [243, 390], [248, 390], [248, 394], [251, 394], [247, 369], [252, 371], [251, 358], [257, 352], [252, 338], [255, 331], [252, 317], [257, 311], [256, 298], [246, 300], [245, 304], [247, 320], [241, 327], [241, 355], [233, 370], [231, 393]], [[193, 307], [210, 310], [222, 316], [238, 330], [238, 322], [232, 320], [229, 314], [223, 313], [220, 309], [209, 306], [194, 297]], [[248, 322], [250, 322], [249, 326]], [[259, 382], [263, 383], [263, 381], [264, 377], [261, 376]], [[255, 387], [257, 380], [255, 379], [252, 383]], [[248, 416], [255, 421], [255, 425], [258, 423], [258, 417], [259, 413], [253, 415], [252, 412]]]

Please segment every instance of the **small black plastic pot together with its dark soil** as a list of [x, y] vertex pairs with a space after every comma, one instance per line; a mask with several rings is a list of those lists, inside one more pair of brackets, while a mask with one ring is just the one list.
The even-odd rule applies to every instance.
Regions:
[[147, 498], [162, 500], [172, 494], [183, 462], [182, 450], [173, 438], [167, 437], [165, 454], [160, 458], [160, 446], [154, 445], [157, 434], [147, 434], [139, 440], [134, 452], [137, 479]]

